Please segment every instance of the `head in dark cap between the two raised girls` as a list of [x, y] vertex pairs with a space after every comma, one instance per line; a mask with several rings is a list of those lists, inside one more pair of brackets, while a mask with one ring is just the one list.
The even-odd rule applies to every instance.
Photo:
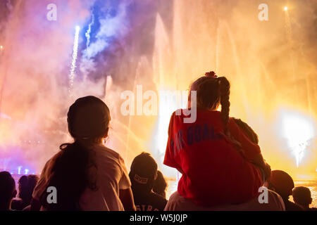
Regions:
[[141, 153], [132, 161], [130, 181], [132, 190], [150, 191], [154, 186], [157, 174], [157, 164], [149, 153]]

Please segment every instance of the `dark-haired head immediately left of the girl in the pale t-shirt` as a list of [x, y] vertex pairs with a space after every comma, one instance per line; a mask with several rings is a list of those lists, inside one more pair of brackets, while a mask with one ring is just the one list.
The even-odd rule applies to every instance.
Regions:
[[32, 200], [32, 193], [37, 185], [37, 181], [39, 177], [37, 175], [28, 175], [28, 176], [21, 176], [18, 184], [19, 184], [19, 195], [18, 197], [23, 200], [23, 205], [30, 205]]

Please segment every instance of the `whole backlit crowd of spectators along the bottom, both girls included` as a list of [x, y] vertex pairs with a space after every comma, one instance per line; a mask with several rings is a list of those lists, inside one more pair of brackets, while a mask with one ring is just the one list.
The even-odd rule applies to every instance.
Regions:
[[[21, 176], [16, 188], [11, 174], [0, 172], [0, 210], [316, 210], [309, 207], [309, 188], [294, 188], [289, 174], [271, 171], [254, 130], [229, 117], [228, 79], [207, 72], [190, 91], [197, 93], [195, 103], [188, 98], [197, 120], [185, 123], [187, 115], [173, 113], [168, 128], [163, 163], [182, 174], [169, 199], [166, 179], [149, 153], [136, 155], [128, 173], [121, 155], [104, 145], [111, 112], [99, 98], [86, 96], [68, 110], [73, 143], [61, 144], [39, 177]], [[56, 201], [48, 200], [49, 187], [58, 190]], [[268, 188], [266, 203], [259, 201], [261, 187]]]

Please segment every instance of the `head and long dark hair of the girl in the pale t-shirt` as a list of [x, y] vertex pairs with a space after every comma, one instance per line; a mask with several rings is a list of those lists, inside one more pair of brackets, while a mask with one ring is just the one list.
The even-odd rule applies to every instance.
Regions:
[[74, 143], [63, 143], [51, 166], [48, 186], [58, 191], [57, 204], [47, 204], [44, 192], [41, 203], [46, 210], [81, 210], [80, 196], [86, 188], [97, 189], [92, 146], [108, 133], [110, 112], [99, 98], [79, 98], [68, 111], [68, 131]]

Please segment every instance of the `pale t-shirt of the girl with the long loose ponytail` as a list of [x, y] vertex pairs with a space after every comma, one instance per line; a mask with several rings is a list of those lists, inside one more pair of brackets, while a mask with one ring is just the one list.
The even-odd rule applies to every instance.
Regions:
[[[87, 188], [80, 198], [80, 207], [85, 211], [124, 211], [119, 198], [119, 190], [131, 186], [128, 171], [123, 158], [114, 150], [103, 145], [94, 146], [97, 165], [97, 190]], [[46, 162], [33, 198], [39, 200], [49, 180], [49, 167], [54, 162], [56, 155]]]

